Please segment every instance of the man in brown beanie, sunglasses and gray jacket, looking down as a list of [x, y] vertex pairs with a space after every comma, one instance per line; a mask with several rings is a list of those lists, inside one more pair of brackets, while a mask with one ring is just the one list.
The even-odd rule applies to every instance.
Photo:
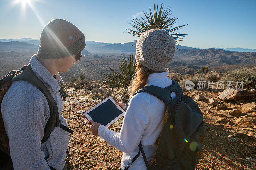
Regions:
[[[60, 123], [63, 103], [59, 72], [67, 72], [81, 58], [84, 34], [63, 19], [53, 19], [43, 28], [37, 54], [30, 59], [31, 68], [57, 103]], [[69, 133], [55, 127], [46, 142], [41, 143], [50, 109], [44, 94], [28, 81], [13, 81], [4, 95], [1, 112], [9, 137], [14, 169], [66, 169]]]

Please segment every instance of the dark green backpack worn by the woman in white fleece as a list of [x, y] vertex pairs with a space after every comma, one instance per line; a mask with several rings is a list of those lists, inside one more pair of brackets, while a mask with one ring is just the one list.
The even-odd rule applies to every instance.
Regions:
[[[201, 151], [205, 134], [203, 114], [196, 102], [191, 97], [184, 95], [180, 85], [174, 80], [169, 87], [145, 86], [133, 95], [141, 92], [156, 96], [166, 104], [167, 109], [150, 165], [148, 165], [140, 142], [139, 153], [126, 166], [125, 170], [128, 170], [139, 157], [140, 152], [148, 170], [195, 169], [203, 155]], [[177, 95], [174, 99], [171, 97], [172, 92]]]

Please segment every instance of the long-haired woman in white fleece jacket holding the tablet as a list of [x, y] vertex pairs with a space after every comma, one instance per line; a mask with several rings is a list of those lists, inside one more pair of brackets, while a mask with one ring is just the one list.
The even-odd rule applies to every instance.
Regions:
[[[141, 92], [132, 96], [144, 86], [168, 87], [172, 80], [167, 77], [166, 67], [175, 53], [175, 40], [163, 29], [151, 29], [143, 34], [136, 43], [137, 75], [129, 86], [130, 101], [124, 114], [121, 131], [116, 133], [105, 126], [91, 121], [92, 133], [100, 136], [110, 145], [123, 153], [121, 168], [125, 167], [138, 154], [141, 141], [148, 163], [150, 163], [156, 141], [160, 135], [166, 105], [157, 97]], [[176, 94], [171, 93], [175, 98]], [[116, 103], [123, 109], [125, 103]], [[129, 170], [146, 170], [142, 155], [136, 159]]]

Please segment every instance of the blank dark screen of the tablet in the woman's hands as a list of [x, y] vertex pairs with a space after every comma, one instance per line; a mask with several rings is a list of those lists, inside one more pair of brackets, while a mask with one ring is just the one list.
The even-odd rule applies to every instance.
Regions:
[[88, 113], [94, 122], [98, 122], [104, 126], [121, 114], [122, 111], [109, 99]]

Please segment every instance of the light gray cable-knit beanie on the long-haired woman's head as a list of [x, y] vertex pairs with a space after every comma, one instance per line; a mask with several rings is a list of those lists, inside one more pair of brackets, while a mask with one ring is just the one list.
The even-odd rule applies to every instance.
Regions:
[[155, 71], [164, 71], [175, 53], [175, 40], [163, 29], [151, 29], [140, 35], [135, 59]]

